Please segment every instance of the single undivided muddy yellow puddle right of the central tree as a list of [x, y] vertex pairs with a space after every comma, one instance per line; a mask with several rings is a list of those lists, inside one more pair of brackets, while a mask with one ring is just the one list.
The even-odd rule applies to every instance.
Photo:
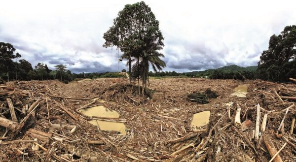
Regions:
[[199, 127], [203, 127], [209, 123], [210, 120], [210, 111], [202, 111], [196, 114], [193, 114], [191, 120], [191, 128], [197, 129]]

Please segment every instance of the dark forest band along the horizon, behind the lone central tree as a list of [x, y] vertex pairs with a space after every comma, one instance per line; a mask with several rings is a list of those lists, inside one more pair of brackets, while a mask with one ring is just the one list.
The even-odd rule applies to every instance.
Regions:
[[[0, 80], [47, 80], [59, 79], [69, 82], [76, 78], [125, 77], [118, 72], [72, 73], [66, 65], [56, 65], [49, 69], [46, 64], [38, 63], [34, 68], [28, 61], [21, 59], [10, 43], [0, 42]], [[98, 69], [99, 70], [99, 69]], [[122, 70], [126, 72], [125, 69]], [[132, 71], [133, 75], [133, 71]], [[279, 35], [272, 35], [269, 47], [260, 56], [258, 66], [241, 67], [227, 65], [217, 69], [179, 73], [176, 71], [148, 72], [148, 76], [187, 76], [211, 79], [263, 79], [287, 82], [296, 78], [296, 26], [287, 26]]]

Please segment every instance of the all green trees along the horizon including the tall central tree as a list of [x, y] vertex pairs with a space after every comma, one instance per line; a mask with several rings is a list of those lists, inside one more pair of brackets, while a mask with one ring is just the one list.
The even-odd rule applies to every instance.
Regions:
[[[132, 80], [138, 81], [139, 94], [140, 80], [146, 88], [149, 76], [187, 76], [207, 77], [212, 79], [263, 79], [285, 82], [290, 77], [296, 78], [296, 26], [287, 26], [279, 35], [272, 35], [269, 47], [260, 56], [258, 68], [253, 70], [231, 70], [233, 66], [224, 69], [210, 69], [202, 72], [179, 73], [176, 71], [161, 71], [166, 64], [159, 51], [162, 50], [164, 37], [159, 29], [159, 22], [150, 7], [144, 1], [127, 4], [118, 12], [110, 29], [104, 33], [106, 40], [103, 47], [115, 46], [123, 54], [119, 61], [127, 60]], [[38, 63], [35, 68], [20, 59], [19, 53], [10, 43], [0, 42], [0, 78], [4, 80], [44, 80], [59, 79], [69, 82], [75, 78], [124, 77], [115, 72], [79, 73], [74, 74], [67, 70], [66, 65], [56, 65], [51, 70], [47, 65]], [[149, 71], [153, 69], [154, 72]], [[125, 71], [125, 70], [124, 70]], [[144, 92], [142, 89], [142, 93]]]

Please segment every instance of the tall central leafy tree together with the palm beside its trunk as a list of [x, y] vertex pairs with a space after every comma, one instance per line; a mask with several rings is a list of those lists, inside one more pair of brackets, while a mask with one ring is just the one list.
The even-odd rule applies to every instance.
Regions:
[[[146, 85], [148, 79], [149, 63], [154, 70], [165, 67], [165, 63], [159, 59], [163, 55], [159, 53], [155, 55], [155, 51], [160, 49], [158, 47], [164, 46], [159, 22], [144, 1], [125, 5], [103, 38], [106, 40], [104, 47], [116, 46], [123, 52], [121, 58], [128, 60], [129, 73], [133, 62], [138, 65], [143, 62], [141, 67], [143, 85]], [[153, 57], [150, 57], [151, 55]], [[131, 79], [130, 76], [130, 83]]]

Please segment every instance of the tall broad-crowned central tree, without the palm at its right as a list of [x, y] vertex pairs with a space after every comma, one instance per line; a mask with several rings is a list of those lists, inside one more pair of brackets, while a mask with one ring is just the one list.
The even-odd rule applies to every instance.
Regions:
[[104, 47], [116, 46], [123, 52], [121, 58], [129, 60], [129, 72], [132, 57], [139, 58], [149, 41], [157, 40], [163, 46], [159, 22], [144, 1], [125, 5], [103, 38], [106, 40]]

